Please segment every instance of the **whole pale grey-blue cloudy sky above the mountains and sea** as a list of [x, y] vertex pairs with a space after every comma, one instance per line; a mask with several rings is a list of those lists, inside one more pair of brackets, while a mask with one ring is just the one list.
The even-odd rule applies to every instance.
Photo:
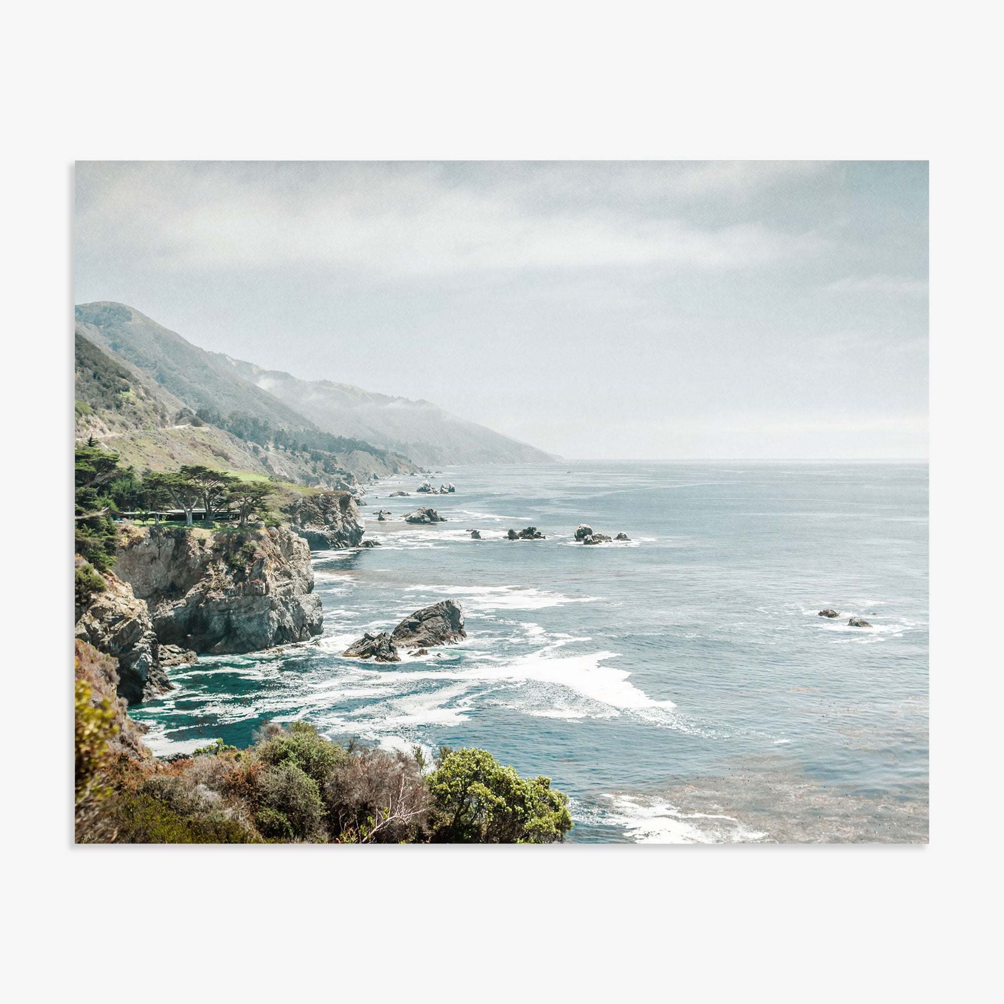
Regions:
[[80, 163], [77, 302], [569, 458], [928, 453], [910, 163]]

